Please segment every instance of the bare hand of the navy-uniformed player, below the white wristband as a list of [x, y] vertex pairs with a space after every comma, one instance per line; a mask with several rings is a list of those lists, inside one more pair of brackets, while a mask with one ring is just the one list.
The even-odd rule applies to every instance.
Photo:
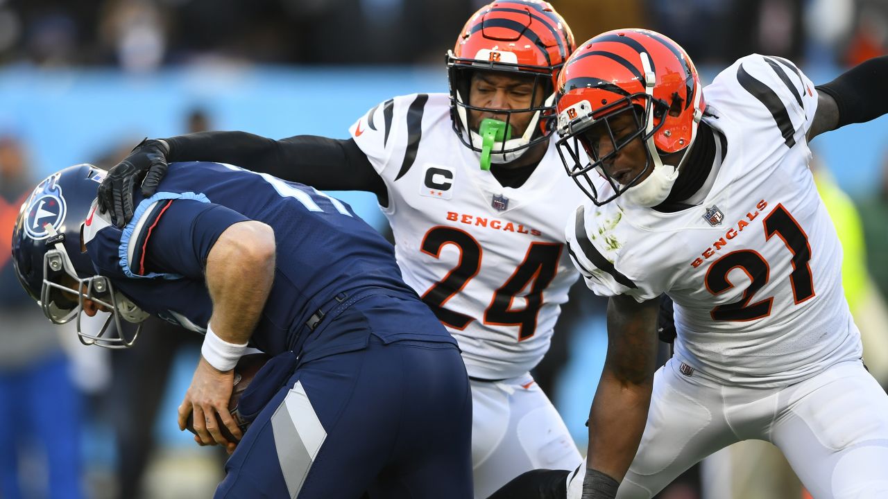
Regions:
[[234, 452], [237, 442], [226, 440], [219, 431], [219, 424], [225, 424], [234, 438], [243, 438], [241, 428], [228, 410], [233, 384], [234, 369], [220, 371], [201, 357], [194, 370], [191, 386], [185, 393], [185, 400], [178, 406], [179, 430], [185, 430], [188, 415], [194, 412], [192, 424], [197, 432], [194, 441], [202, 446], [220, 444], [226, 447], [229, 454]]

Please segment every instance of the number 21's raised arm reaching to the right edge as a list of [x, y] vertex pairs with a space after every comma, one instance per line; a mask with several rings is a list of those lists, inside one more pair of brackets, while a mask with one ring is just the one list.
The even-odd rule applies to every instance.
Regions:
[[808, 140], [851, 123], [866, 123], [888, 114], [888, 56], [860, 63], [835, 80], [817, 85], [817, 112]]

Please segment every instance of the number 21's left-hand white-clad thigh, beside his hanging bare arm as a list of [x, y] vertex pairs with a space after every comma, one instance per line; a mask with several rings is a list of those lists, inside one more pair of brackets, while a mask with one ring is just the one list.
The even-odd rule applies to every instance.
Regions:
[[[618, 499], [650, 499], [702, 458], [737, 441], [725, 421], [718, 385], [678, 369], [672, 358], [654, 376], [654, 392], [645, 432]], [[568, 484], [567, 496], [579, 498], [583, 472]]]

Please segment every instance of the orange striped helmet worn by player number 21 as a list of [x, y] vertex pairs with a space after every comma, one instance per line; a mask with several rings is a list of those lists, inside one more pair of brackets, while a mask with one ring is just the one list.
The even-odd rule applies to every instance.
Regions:
[[[662, 168], [660, 154], [687, 150], [694, 143], [706, 107], [700, 76], [685, 50], [646, 29], [608, 31], [583, 44], [567, 59], [559, 75], [558, 99], [561, 161], [567, 174], [599, 206], [639, 185], [647, 172]], [[634, 116], [637, 130], [619, 138], [618, 143], [608, 121], [623, 113]], [[592, 125], [604, 125], [607, 132], [601, 135], [612, 141], [603, 157], [599, 157], [597, 145], [584, 137]], [[601, 166], [637, 138], [647, 148], [645, 169], [621, 185]], [[678, 165], [667, 167], [678, 169]], [[658, 177], [674, 182], [677, 173], [673, 173]], [[607, 179], [613, 193], [599, 192], [599, 176]]]

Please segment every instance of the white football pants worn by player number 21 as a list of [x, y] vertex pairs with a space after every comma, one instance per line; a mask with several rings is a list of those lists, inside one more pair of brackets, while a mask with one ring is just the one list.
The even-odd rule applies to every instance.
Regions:
[[[888, 497], [888, 395], [860, 360], [782, 388], [724, 386], [671, 359], [654, 376], [638, 454], [618, 499], [649, 499], [740, 440], [772, 442], [816, 499]], [[582, 473], [580, 473], [582, 474]], [[568, 497], [579, 497], [582, 476]]]

